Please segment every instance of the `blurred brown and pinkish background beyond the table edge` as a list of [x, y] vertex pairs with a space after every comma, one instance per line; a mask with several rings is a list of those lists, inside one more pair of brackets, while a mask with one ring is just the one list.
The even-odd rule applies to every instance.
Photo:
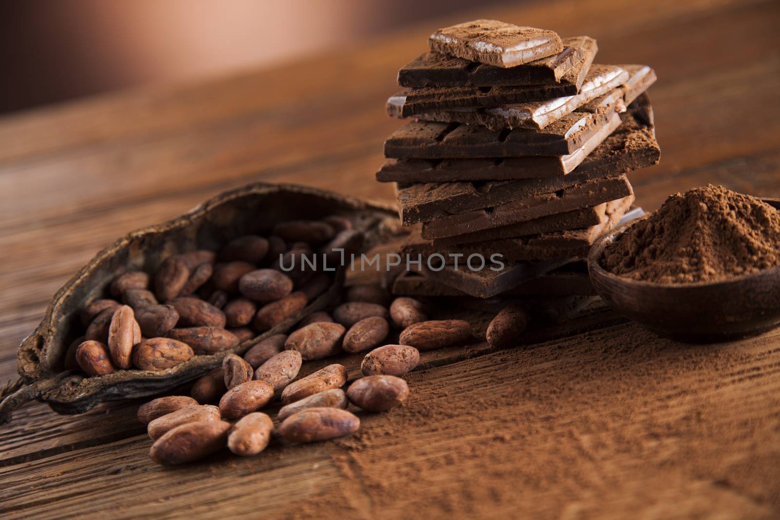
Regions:
[[468, 7], [474, 2], [2, 2], [0, 113], [273, 65]]

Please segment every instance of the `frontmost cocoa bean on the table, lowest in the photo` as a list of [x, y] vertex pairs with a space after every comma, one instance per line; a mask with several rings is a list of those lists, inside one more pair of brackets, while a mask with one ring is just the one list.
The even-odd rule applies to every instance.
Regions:
[[149, 456], [162, 465], [197, 461], [225, 447], [231, 426], [225, 421], [198, 421], [176, 426], [154, 441]]

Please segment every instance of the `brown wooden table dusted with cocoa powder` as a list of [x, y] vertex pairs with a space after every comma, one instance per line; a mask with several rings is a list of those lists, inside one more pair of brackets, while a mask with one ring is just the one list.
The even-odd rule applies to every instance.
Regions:
[[[778, 7], [572, 0], [473, 17], [588, 34], [597, 62], [656, 69], [661, 164], [630, 175], [652, 210], [707, 182], [780, 195]], [[391, 200], [374, 172], [399, 126], [384, 112], [395, 71], [466, 17], [0, 120], [0, 378], [55, 290], [129, 229], [254, 181]], [[611, 313], [585, 329], [439, 356], [356, 438], [179, 469], [151, 463], [136, 405], [29, 405], [0, 426], [0, 518], [778, 518], [780, 331], [681, 345]]]

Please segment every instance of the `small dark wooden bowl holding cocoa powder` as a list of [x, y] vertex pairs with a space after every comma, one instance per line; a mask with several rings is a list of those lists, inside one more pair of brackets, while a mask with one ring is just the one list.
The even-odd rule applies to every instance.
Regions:
[[[762, 200], [780, 209], [780, 199]], [[689, 343], [732, 341], [780, 325], [780, 267], [690, 284], [636, 281], [605, 271], [605, 247], [644, 218], [603, 235], [588, 254], [594, 288], [615, 311], [660, 336]]]

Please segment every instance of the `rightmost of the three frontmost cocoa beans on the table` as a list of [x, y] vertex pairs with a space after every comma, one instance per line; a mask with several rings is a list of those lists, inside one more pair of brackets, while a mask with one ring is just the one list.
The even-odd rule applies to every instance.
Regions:
[[360, 419], [338, 408], [310, 408], [289, 416], [279, 425], [279, 435], [290, 442], [313, 442], [351, 435], [360, 430]]

